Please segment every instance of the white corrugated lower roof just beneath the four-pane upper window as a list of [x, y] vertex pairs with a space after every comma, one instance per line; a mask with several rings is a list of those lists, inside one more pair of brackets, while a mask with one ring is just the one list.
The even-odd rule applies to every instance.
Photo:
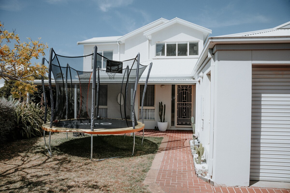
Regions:
[[[198, 58], [152, 59], [140, 62], [148, 65], [152, 62], [149, 79], [192, 79], [191, 72]], [[146, 68], [141, 79], [145, 79], [149, 68]]]

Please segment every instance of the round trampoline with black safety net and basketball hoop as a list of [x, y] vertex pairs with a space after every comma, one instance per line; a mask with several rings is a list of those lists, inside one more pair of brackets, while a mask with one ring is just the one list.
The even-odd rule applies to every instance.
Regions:
[[[100, 161], [93, 159], [94, 134], [125, 134], [126, 136], [126, 133], [133, 133], [132, 155], [134, 154], [135, 132], [143, 131], [143, 144], [143, 103], [152, 67], [152, 62], [144, 66], [140, 65], [139, 61], [139, 53], [129, 60], [110, 60], [97, 53], [97, 46], [94, 47], [93, 54], [77, 57], [61, 56], [52, 48], [50, 49], [47, 62], [51, 119], [50, 122], [42, 125], [44, 144], [50, 157], [52, 157], [51, 132], [90, 134], [91, 161]], [[84, 71], [84, 67], [90, 64], [92, 71]], [[42, 65], [45, 65], [45, 58], [42, 60]], [[142, 93], [142, 122], [139, 122], [135, 115], [136, 90], [146, 67], [149, 69]], [[44, 80], [41, 79], [44, 91]], [[52, 94], [52, 79], [56, 86], [56, 97]], [[44, 101], [46, 102], [45, 92]], [[45, 131], [49, 132], [48, 146]]]

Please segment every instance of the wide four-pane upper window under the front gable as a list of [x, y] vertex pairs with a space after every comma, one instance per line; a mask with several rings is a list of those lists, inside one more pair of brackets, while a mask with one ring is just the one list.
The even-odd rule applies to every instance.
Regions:
[[198, 42], [156, 43], [155, 56], [195, 56], [198, 55]]

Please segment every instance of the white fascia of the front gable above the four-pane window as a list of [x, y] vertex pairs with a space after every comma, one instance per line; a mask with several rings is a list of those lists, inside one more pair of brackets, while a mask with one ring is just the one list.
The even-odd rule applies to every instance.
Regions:
[[149, 37], [151, 34], [157, 32], [157, 31], [159, 31], [159, 30], [161, 30], [161, 29], [163, 29], [165, 27], [173, 25], [174, 23], [180, 23], [182, 25], [185, 25], [185, 26], [191, 27], [193, 29], [202, 31], [202, 32], [204, 32], [206, 34], [211, 34], [211, 32], [212, 32], [211, 30], [209, 30], [209, 29], [207, 29], [205, 27], [202, 27], [200, 25], [196, 25], [194, 23], [191, 23], [191, 22], [188, 22], [188, 21], [185, 21], [185, 20], [182, 20], [182, 19], [179, 19], [179, 18], [176, 17], [176, 18], [174, 18], [174, 19], [172, 19], [172, 20], [170, 20], [170, 21], [168, 21], [166, 23], [158, 25], [158, 26], [156, 26], [156, 27], [144, 32], [143, 34], [144, 34], [144, 36]]

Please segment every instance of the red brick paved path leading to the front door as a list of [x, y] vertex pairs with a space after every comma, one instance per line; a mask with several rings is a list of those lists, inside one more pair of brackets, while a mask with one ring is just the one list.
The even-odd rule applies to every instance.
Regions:
[[[142, 135], [142, 133], [136, 133]], [[164, 137], [144, 180], [152, 193], [260, 193], [288, 192], [285, 189], [215, 187], [195, 175], [189, 146], [192, 132], [181, 130], [145, 130], [147, 137]]]

